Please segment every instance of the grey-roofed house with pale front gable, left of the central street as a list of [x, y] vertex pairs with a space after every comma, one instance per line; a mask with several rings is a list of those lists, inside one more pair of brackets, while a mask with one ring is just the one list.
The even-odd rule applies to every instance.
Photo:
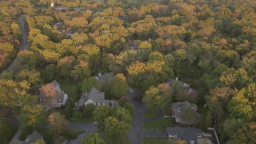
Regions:
[[87, 92], [83, 93], [81, 99], [78, 102], [77, 110], [81, 109], [82, 107], [88, 104], [94, 104], [96, 106], [101, 106], [101, 105], [108, 105], [113, 107], [118, 106], [117, 101], [106, 100], [105, 93], [98, 91], [98, 89], [95, 87], [91, 88], [88, 93]]

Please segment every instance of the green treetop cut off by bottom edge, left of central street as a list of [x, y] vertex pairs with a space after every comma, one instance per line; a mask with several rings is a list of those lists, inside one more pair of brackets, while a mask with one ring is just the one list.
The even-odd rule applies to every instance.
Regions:
[[86, 139], [82, 137], [81, 144], [105, 144], [105, 142], [97, 133], [94, 133], [88, 135]]

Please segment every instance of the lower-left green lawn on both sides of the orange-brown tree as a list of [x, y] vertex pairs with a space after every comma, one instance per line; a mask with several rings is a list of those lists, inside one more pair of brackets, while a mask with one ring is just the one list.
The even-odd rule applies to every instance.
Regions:
[[[44, 136], [44, 141], [48, 144], [54, 143], [53, 142], [53, 137], [48, 131], [48, 128], [36, 128], [38, 133]], [[61, 136], [63, 136], [63, 140], [73, 140], [75, 139], [78, 134], [84, 133], [85, 130], [80, 130], [80, 129], [71, 129], [67, 131], [63, 131]]]

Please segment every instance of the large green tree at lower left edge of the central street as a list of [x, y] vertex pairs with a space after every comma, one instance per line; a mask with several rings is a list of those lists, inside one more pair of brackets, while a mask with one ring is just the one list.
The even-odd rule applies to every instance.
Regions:
[[105, 125], [105, 139], [109, 143], [118, 143], [121, 136], [127, 135], [131, 129], [131, 124], [124, 121], [118, 121], [117, 118], [108, 117], [104, 121]]

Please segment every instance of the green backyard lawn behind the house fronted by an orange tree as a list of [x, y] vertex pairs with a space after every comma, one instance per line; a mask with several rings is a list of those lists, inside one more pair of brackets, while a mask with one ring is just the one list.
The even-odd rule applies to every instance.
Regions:
[[67, 94], [70, 94], [74, 89], [78, 88], [78, 82], [72, 79], [60, 79], [58, 82], [60, 83], [62, 91]]

